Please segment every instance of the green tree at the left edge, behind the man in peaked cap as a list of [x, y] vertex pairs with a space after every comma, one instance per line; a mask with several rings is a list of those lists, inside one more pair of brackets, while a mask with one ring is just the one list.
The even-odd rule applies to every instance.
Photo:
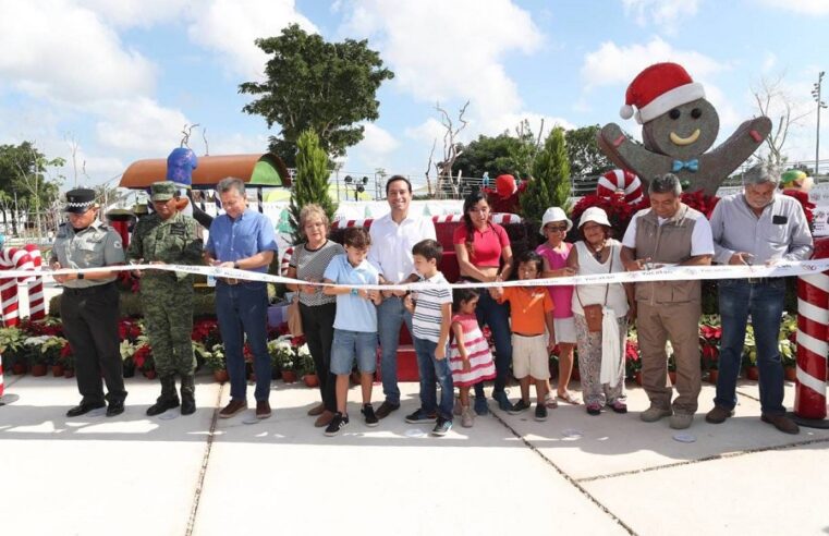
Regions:
[[31, 142], [0, 145], [0, 210], [3, 227], [11, 218], [12, 234], [22, 218], [38, 234], [53, 227], [60, 182], [49, 178], [48, 168], [64, 163], [47, 158]]

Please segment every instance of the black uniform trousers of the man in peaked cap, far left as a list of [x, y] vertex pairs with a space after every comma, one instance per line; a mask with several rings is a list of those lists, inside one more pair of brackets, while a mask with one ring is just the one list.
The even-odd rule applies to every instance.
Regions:
[[123, 402], [126, 398], [118, 334], [118, 300], [114, 283], [63, 289], [60, 316], [75, 356], [77, 390], [86, 403], [103, 402], [101, 376], [107, 383], [106, 400]]

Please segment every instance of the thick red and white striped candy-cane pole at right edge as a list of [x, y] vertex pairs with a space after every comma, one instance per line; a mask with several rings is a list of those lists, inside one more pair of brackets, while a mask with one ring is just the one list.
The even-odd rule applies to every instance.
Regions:
[[[814, 258], [829, 257], [829, 239], [815, 241]], [[829, 428], [826, 419], [827, 353], [829, 353], [829, 271], [797, 278], [797, 380], [795, 422]]]

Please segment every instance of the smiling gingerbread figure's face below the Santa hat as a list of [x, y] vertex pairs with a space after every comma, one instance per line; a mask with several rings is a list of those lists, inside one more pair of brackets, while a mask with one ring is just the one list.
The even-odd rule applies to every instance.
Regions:
[[648, 149], [679, 160], [700, 156], [717, 139], [720, 119], [706, 99], [671, 108], [642, 126], [642, 139]]

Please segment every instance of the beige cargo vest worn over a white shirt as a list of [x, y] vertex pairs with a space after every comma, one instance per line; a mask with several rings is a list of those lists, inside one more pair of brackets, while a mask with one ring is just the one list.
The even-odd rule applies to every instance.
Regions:
[[[648, 258], [653, 263], [679, 264], [691, 258], [691, 235], [695, 217], [699, 212], [680, 204], [673, 218], [661, 226], [654, 210], [641, 216], [636, 221], [636, 258]], [[653, 281], [636, 283], [636, 301], [659, 303], [699, 302], [702, 289], [699, 280]]]

